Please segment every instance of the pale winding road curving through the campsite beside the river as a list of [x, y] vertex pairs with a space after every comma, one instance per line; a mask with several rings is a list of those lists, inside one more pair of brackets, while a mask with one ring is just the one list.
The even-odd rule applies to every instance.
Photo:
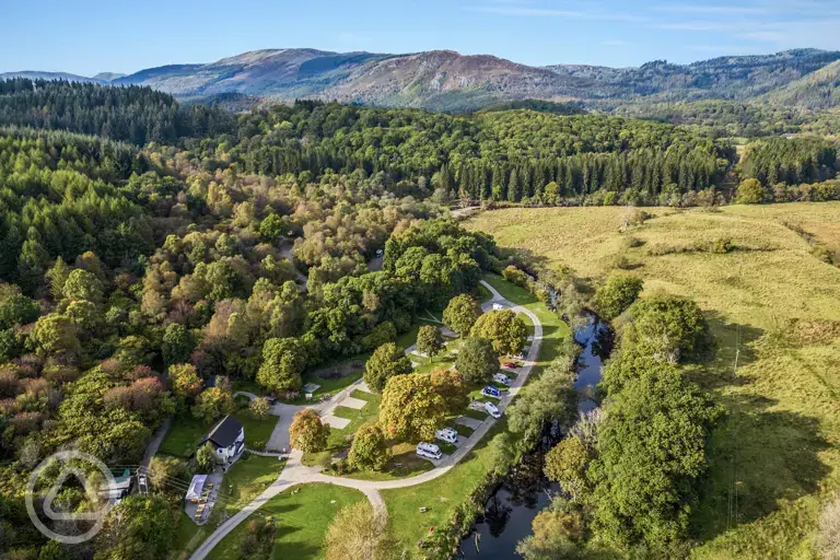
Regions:
[[[510, 386], [510, 390], [498, 405], [499, 409], [504, 411], [513, 398], [520, 393], [520, 389], [522, 389], [523, 385], [525, 385], [528, 380], [528, 375], [530, 375], [534, 365], [537, 363], [537, 359], [539, 358], [539, 347], [542, 342], [542, 324], [530, 310], [509, 302], [502, 298], [502, 294], [500, 294], [488, 282], [481, 280], [481, 284], [483, 284], [483, 287], [487, 288], [492, 294], [492, 299], [481, 305], [483, 311], [492, 308], [493, 304], [498, 303], [504, 307], [511, 308], [514, 313], [524, 313], [534, 323], [534, 341], [528, 349], [528, 355], [525, 357], [524, 364], [520, 369], [520, 373], [516, 376], [516, 380], [514, 380], [513, 384]], [[354, 388], [354, 385], [351, 385], [351, 387]], [[348, 390], [349, 394], [349, 392], [352, 389], [348, 387], [346, 390]], [[338, 398], [331, 399], [331, 407], [335, 407], [338, 401]], [[245, 505], [236, 514], [232, 515], [225, 522], [219, 525], [219, 527], [217, 527], [217, 529], [207, 538], [207, 540], [205, 540], [201, 546], [199, 546], [196, 551], [192, 552], [190, 560], [201, 560], [207, 558], [207, 555], [213, 549], [213, 547], [215, 547], [237, 525], [244, 522], [252, 513], [259, 509], [259, 506], [261, 506], [264, 503], [283, 490], [287, 490], [296, 485], [325, 482], [346, 488], [353, 488], [363, 492], [376, 510], [385, 512], [385, 502], [380, 494], [380, 490], [389, 490], [394, 488], [406, 488], [422, 485], [424, 482], [429, 482], [439, 477], [442, 477], [448, 472], [452, 467], [457, 465], [458, 462], [466, 457], [470, 451], [472, 451], [472, 447], [476, 446], [476, 444], [487, 434], [487, 432], [493, 427], [494, 423], [495, 420], [488, 416], [487, 419], [481, 422], [481, 425], [478, 427], [478, 429], [474, 431], [469, 438], [467, 438], [467, 440], [460, 445], [460, 447], [457, 448], [457, 451], [455, 451], [455, 453], [442, 459], [441, 463], [433, 469], [415, 477], [401, 478], [399, 480], [357, 480], [353, 478], [324, 475], [317, 467], [307, 467], [303, 465], [301, 462], [303, 458], [303, 453], [294, 450], [289, 455], [285, 468], [283, 468], [283, 470], [280, 472], [280, 476], [277, 478], [277, 480], [275, 480], [250, 503]]]

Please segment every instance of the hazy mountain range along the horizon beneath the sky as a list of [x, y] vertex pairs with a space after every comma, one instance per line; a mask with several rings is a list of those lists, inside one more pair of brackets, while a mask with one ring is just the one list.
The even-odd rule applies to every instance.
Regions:
[[0, 78], [62, 79], [148, 85], [179, 98], [244, 94], [280, 100], [465, 110], [516, 100], [626, 102], [759, 100], [825, 108], [840, 105], [840, 51], [795, 49], [728, 56], [690, 65], [665, 60], [637, 68], [530, 67], [489, 55], [430, 50], [408, 55], [265, 49], [200, 65], [170, 65], [124, 75], [9, 72]]

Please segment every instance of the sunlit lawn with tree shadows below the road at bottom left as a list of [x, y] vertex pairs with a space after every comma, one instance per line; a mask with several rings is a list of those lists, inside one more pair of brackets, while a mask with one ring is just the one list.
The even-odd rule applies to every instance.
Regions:
[[[364, 494], [349, 488], [304, 485], [276, 495], [252, 515], [271, 517], [277, 523], [270, 558], [318, 559], [324, 557], [324, 538], [336, 513], [361, 500], [364, 500]], [[213, 548], [208, 558], [241, 558], [242, 544], [247, 536], [248, 524], [240, 524]]]

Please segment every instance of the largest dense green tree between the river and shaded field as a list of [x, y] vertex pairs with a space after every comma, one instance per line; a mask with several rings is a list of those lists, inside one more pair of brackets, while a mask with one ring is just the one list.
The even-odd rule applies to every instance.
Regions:
[[598, 537], [623, 550], [673, 551], [687, 538], [720, 408], [672, 370], [628, 381], [609, 396], [606, 412], [587, 471]]

